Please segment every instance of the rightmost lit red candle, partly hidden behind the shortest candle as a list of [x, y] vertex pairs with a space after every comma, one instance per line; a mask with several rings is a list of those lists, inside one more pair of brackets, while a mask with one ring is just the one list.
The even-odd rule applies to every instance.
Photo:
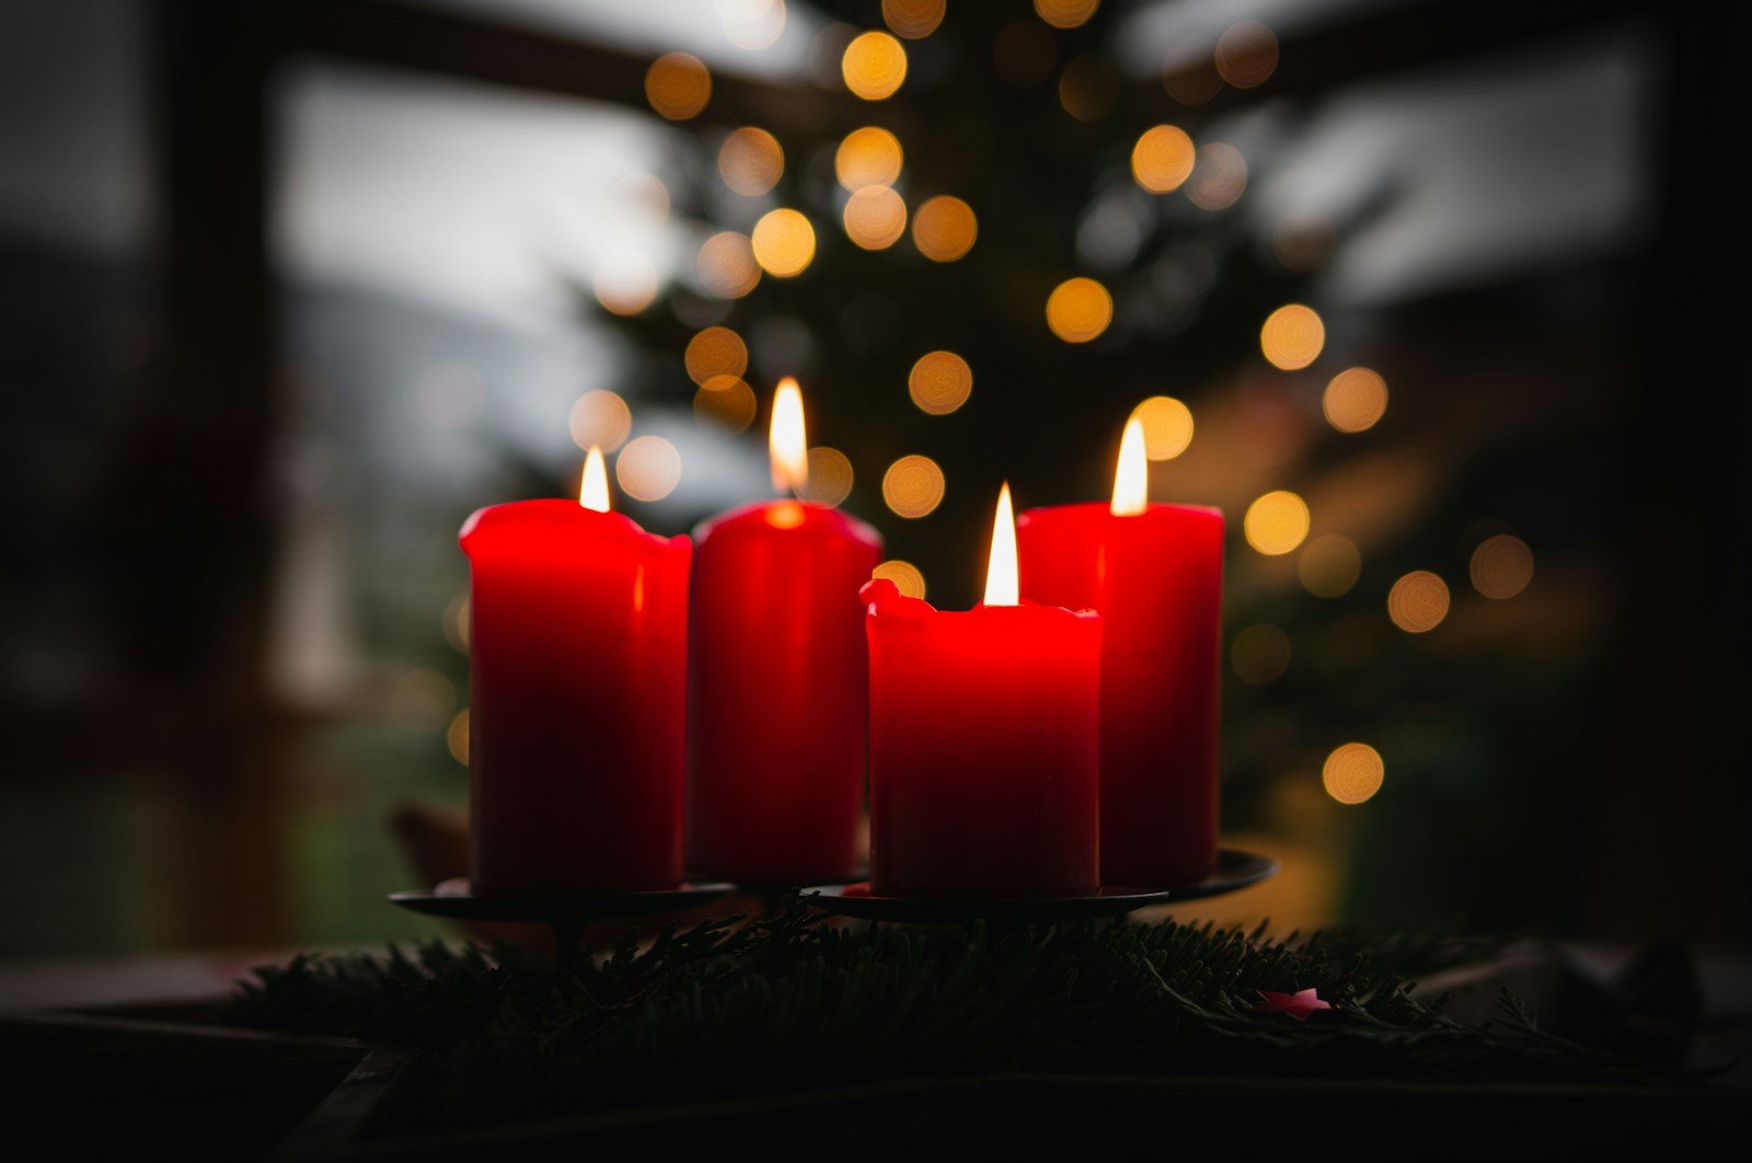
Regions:
[[1102, 615], [1102, 883], [1170, 886], [1216, 863], [1223, 513], [1149, 504], [1144, 431], [1121, 441], [1113, 504], [1018, 522], [1032, 601]]

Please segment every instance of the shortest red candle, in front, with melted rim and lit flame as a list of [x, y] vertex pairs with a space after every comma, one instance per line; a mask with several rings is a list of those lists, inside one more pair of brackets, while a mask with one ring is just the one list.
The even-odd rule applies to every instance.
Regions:
[[937, 611], [887, 580], [864, 599], [872, 892], [1095, 892], [1102, 624], [1018, 604], [1009, 485], [985, 604]]

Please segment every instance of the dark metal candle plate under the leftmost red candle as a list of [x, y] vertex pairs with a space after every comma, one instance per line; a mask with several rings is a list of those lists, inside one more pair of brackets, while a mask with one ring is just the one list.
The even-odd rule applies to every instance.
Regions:
[[736, 885], [676, 885], [629, 893], [480, 893], [466, 878], [445, 881], [427, 893], [389, 893], [389, 902], [452, 921], [547, 925], [554, 930], [554, 960], [566, 963], [578, 951], [583, 930], [597, 921], [680, 913], [736, 892]]

